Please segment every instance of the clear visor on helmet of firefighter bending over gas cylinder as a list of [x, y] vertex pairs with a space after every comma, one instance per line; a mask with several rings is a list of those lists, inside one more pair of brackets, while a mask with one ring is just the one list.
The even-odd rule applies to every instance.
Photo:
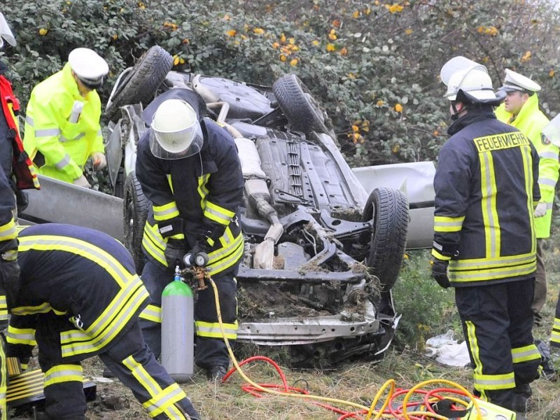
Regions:
[[199, 153], [203, 143], [204, 136], [198, 123], [179, 132], [150, 130], [150, 150], [160, 159], [188, 158]]

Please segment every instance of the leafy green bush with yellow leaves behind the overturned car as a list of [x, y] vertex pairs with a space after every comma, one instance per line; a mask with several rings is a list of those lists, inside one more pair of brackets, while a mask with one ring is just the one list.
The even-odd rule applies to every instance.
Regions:
[[159, 44], [175, 68], [271, 84], [295, 72], [328, 111], [351, 165], [434, 160], [449, 123], [438, 74], [454, 55], [542, 85], [559, 101], [559, 12], [547, 0], [22, 0], [3, 13], [18, 38], [0, 54], [25, 105], [78, 46], [116, 77]]

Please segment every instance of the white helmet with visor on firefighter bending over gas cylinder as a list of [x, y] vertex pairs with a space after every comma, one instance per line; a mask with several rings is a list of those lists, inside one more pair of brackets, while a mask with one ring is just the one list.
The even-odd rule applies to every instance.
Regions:
[[202, 128], [197, 113], [181, 99], [167, 99], [153, 114], [150, 150], [156, 158], [181, 159], [200, 152]]

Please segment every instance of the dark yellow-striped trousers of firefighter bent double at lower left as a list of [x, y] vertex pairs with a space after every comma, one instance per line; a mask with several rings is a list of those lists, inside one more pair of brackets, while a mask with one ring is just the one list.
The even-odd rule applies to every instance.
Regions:
[[[57, 325], [67, 329], [67, 323], [52, 312], [38, 316], [36, 340], [39, 364], [45, 372], [45, 412], [53, 420], [85, 420], [80, 362], [62, 360], [59, 333], [55, 332]], [[179, 385], [155, 360], [138, 322], [99, 357], [132, 390], [151, 418], [200, 419]]]

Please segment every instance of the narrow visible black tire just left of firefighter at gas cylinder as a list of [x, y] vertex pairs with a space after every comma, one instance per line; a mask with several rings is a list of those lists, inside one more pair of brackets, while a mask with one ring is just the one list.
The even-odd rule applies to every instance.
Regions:
[[136, 175], [131, 172], [125, 181], [123, 220], [125, 223], [125, 246], [132, 254], [138, 274], [141, 274], [144, 268], [142, 237], [144, 237], [144, 225], [150, 206], [151, 203], [142, 192]]

